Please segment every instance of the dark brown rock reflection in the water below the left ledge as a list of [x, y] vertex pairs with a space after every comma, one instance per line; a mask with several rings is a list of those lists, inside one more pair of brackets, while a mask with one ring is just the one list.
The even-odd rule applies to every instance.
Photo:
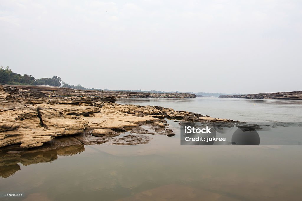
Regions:
[[19, 145], [0, 149], [0, 176], [9, 177], [21, 169], [22, 165], [52, 162], [58, 155], [74, 155], [84, 151], [84, 145], [71, 136], [58, 137], [45, 143], [42, 147], [22, 149]]

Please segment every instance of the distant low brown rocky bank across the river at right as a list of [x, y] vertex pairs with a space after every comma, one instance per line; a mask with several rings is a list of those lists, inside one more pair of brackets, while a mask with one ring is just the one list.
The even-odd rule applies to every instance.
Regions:
[[302, 91], [255, 93], [255, 94], [247, 94], [247, 95], [221, 95], [219, 96], [219, 98], [302, 100]]

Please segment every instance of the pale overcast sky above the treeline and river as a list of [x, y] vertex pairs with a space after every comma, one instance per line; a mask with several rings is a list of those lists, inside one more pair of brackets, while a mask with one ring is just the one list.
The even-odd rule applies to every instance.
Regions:
[[0, 1], [0, 65], [110, 90], [302, 90], [302, 1]]

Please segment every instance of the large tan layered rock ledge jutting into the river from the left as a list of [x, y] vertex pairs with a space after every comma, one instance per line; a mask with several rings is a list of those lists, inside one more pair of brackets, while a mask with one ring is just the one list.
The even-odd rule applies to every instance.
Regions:
[[[175, 135], [166, 119], [232, 121], [159, 106], [120, 105], [114, 103], [116, 97], [86, 95], [77, 91], [77, 96], [50, 96], [38, 89], [0, 85], [0, 147], [23, 150], [53, 140], [57, 147], [61, 136], [70, 136], [64, 146], [146, 144], [154, 134]], [[127, 135], [120, 137], [120, 133]]]

